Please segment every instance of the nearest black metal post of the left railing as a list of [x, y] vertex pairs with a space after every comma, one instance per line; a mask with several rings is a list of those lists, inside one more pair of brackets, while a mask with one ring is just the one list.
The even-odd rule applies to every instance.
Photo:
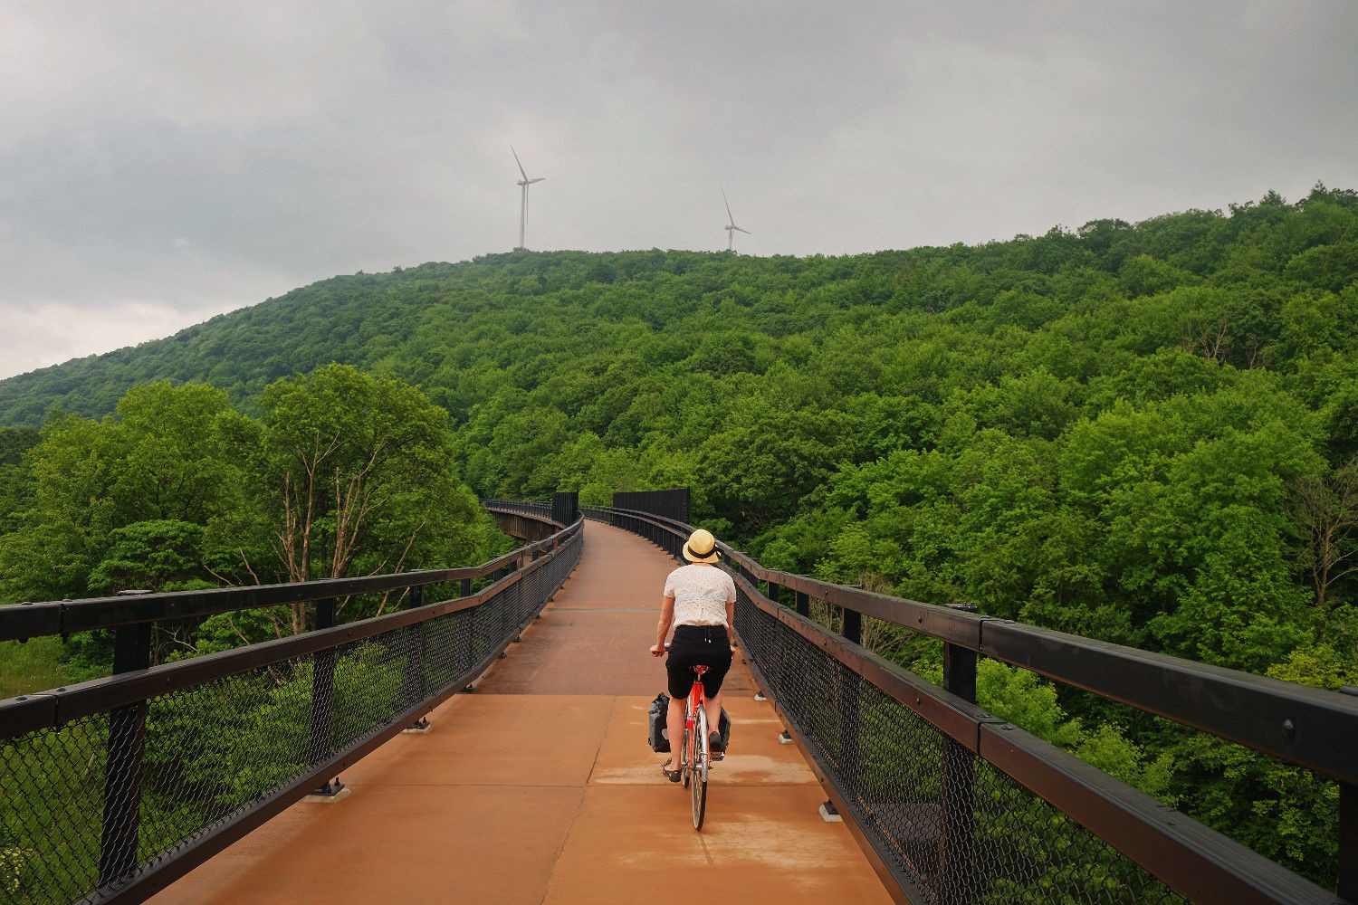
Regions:
[[[147, 594], [151, 592], [122, 592]], [[151, 666], [151, 623], [120, 625], [113, 640], [113, 673]], [[103, 829], [99, 832], [99, 885], [113, 882], [139, 863], [141, 839], [141, 764], [147, 750], [147, 701], [109, 714], [109, 748], [103, 772]]]

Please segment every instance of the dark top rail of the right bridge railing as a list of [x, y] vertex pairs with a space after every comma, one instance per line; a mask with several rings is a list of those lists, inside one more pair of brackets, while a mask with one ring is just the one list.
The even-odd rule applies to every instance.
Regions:
[[[687, 537], [691, 525], [637, 510], [612, 512]], [[718, 543], [758, 581], [853, 609], [1055, 681], [1219, 735], [1293, 764], [1358, 783], [1358, 697], [1196, 663], [777, 569]]]

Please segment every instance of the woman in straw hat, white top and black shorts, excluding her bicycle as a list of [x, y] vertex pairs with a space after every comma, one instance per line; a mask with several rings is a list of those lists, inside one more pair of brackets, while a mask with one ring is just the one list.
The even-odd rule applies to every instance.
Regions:
[[[665, 714], [665, 727], [669, 733], [671, 756], [661, 765], [661, 772], [671, 783], [679, 782], [679, 745], [683, 737], [684, 700], [693, 688], [698, 673], [694, 666], [706, 666], [703, 673], [703, 701], [709, 714], [721, 715], [721, 681], [731, 669], [731, 655], [735, 651], [736, 583], [731, 575], [713, 567], [720, 559], [717, 540], [706, 531], [698, 529], [689, 535], [683, 556], [691, 564], [680, 566], [665, 578], [664, 600], [660, 604], [660, 624], [656, 625], [656, 643], [650, 647], [652, 657], [665, 653], [665, 635], [669, 625], [675, 627], [669, 643], [669, 659], [665, 673], [669, 685], [669, 712]], [[712, 733], [708, 742], [712, 752], [721, 750], [721, 737]]]

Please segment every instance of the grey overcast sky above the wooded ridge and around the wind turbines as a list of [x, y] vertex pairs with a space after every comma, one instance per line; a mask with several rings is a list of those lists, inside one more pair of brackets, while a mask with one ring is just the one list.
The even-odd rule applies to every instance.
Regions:
[[0, 4], [0, 377], [357, 270], [1358, 189], [1354, 0]]

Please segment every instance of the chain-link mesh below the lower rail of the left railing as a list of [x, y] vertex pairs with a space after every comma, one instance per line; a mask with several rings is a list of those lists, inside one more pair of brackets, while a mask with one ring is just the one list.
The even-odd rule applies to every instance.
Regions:
[[471, 678], [574, 569], [482, 604], [0, 741], [0, 902], [98, 901]]

